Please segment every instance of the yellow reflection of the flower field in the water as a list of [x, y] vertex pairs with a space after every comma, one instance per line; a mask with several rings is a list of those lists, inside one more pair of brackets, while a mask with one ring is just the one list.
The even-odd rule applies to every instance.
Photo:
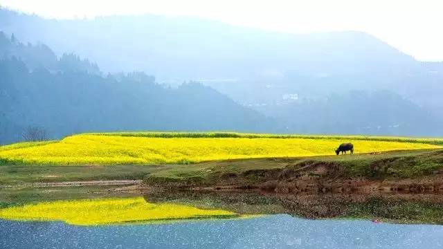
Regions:
[[147, 203], [142, 197], [53, 201], [0, 210], [0, 218], [25, 221], [66, 221], [74, 225], [105, 225], [174, 221], [180, 219], [232, 218], [225, 210], [202, 210], [187, 205]]

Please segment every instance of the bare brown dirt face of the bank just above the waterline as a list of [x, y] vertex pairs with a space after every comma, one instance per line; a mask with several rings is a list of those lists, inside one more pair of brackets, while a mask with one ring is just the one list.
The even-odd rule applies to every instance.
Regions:
[[[192, 189], [262, 190], [278, 194], [303, 193], [432, 193], [443, 192], [443, 174], [418, 178], [377, 179], [346, 177], [339, 165], [313, 163], [303, 169], [252, 170], [241, 175], [221, 176], [215, 185], [179, 185]], [[248, 183], [248, 176], [264, 178], [262, 183]]]

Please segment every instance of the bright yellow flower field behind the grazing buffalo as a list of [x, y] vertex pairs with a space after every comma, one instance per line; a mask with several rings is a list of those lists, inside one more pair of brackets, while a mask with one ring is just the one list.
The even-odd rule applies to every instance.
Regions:
[[[333, 155], [343, 138], [150, 138], [83, 134], [41, 145], [0, 147], [0, 160], [26, 164], [112, 165]], [[355, 153], [435, 149], [419, 142], [351, 140]]]

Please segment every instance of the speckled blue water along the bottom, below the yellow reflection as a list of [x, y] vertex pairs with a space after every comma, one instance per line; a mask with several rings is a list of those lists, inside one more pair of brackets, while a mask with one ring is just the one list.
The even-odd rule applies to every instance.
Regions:
[[442, 225], [308, 220], [286, 214], [163, 225], [0, 220], [0, 248], [443, 248]]

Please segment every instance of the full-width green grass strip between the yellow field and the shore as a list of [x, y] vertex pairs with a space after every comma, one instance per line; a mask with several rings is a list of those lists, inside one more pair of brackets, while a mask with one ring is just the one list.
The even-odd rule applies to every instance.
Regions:
[[297, 170], [312, 164], [335, 165], [343, 177], [370, 179], [416, 178], [443, 171], [442, 149], [388, 151], [375, 154], [345, 156], [310, 156], [290, 158], [248, 158], [213, 160], [190, 165], [113, 165], [57, 166], [2, 165], [1, 185], [24, 183], [53, 183], [63, 181], [142, 180], [147, 183], [208, 183], [225, 178], [260, 183], [266, 181], [264, 172]]

